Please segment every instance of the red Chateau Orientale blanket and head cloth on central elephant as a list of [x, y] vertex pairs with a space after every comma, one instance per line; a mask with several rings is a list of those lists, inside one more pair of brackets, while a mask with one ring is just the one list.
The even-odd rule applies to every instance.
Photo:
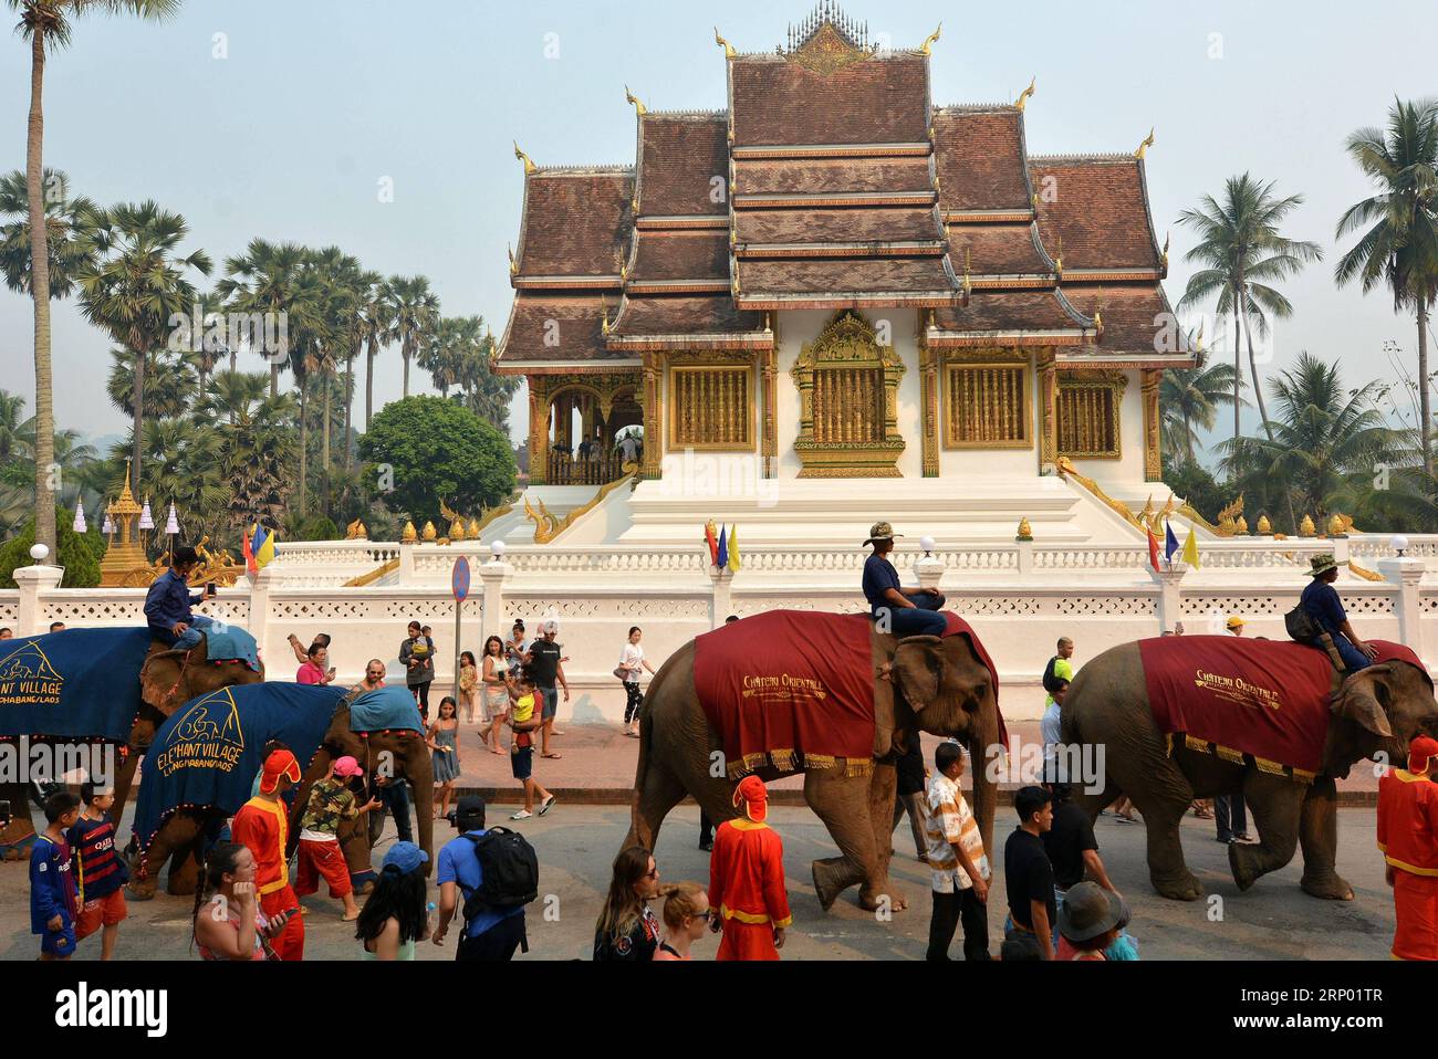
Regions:
[[[998, 672], [969, 625], [945, 615], [945, 635], [966, 635]], [[784, 772], [844, 767], [874, 754], [873, 622], [860, 614], [766, 611], [695, 638], [695, 693], [723, 739], [731, 779], [772, 764]], [[1004, 721], [999, 731], [1005, 744]]]

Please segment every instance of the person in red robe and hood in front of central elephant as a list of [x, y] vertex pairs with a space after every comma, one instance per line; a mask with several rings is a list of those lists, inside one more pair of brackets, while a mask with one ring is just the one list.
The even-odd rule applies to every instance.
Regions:
[[758, 776], [745, 776], [733, 792], [743, 816], [725, 820], [709, 855], [710, 930], [723, 930], [716, 960], [778, 960], [784, 931], [794, 917], [784, 892], [784, 842], [765, 820], [769, 792]]

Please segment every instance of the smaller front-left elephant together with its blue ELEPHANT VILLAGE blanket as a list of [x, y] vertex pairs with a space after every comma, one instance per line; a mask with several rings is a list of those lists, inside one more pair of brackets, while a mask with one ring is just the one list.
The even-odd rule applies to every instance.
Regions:
[[[270, 683], [230, 693], [221, 690], [187, 703], [155, 734], [154, 767], [141, 785], [135, 836], [125, 851], [131, 869], [129, 895], [137, 901], [152, 898], [167, 861], [167, 892], [194, 892], [200, 855], [223, 822], [249, 800], [263, 747], [270, 740], [285, 743], [303, 767], [290, 802], [288, 854], [292, 855], [298, 845], [309, 789], [324, 777], [331, 762], [349, 756], [364, 767], [365, 782], [377, 773], [410, 782], [420, 845], [433, 855], [434, 780], [423, 734], [408, 727], [354, 731], [352, 698], [354, 693], [341, 688]], [[413, 700], [410, 703], [413, 706]], [[418, 710], [414, 710], [414, 724], [418, 723]], [[234, 749], [240, 744], [249, 747], [249, 753]], [[174, 774], [174, 783], [167, 773]], [[365, 797], [357, 795], [357, 800]], [[374, 872], [365, 819], [342, 823], [338, 839], [357, 892], [367, 892]]]

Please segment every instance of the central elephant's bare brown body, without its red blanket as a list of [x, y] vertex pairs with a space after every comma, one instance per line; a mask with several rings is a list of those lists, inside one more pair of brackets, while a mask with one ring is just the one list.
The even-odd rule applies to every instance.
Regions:
[[[804, 621], [827, 618], [802, 615]], [[1001, 743], [1001, 718], [989, 670], [965, 635], [897, 639], [873, 628], [867, 635], [876, 718], [873, 772], [804, 770], [804, 799], [841, 854], [811, 865], [814, 889], [825, 911], [854, 884], [860, 885], [858, 902], [866, 910], [879, 908], [884, 898], [890, 908], [906, 907], [903, 895], [889, 881], [894, 760], [909, 740], [919, 737], [919, 730], [968, 744], [974, 763], [974, 812], [985, 848], [991, 846], [994, 835], [998, 783], [985, 762]], [[666, 813], [684, 795], [692, 795], [716, 823], [739, 815], [732, 800], [735, 782], [710, 772], [713, 754], [723, 753], [723, 740], [696, 693], [695, 654], [690, 641], [670, 655], [644, 695], [627, 846], [653, 849]], [[774, 782], [800, 770], [764, 766], [755, 773]]]

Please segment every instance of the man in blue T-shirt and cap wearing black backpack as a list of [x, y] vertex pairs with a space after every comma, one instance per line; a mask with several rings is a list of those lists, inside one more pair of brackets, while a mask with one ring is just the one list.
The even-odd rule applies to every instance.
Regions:
[[[529, 951], [525, 905], [539, 897], [539, 859], [522, 835], [508, 828], [485, 829], [485, 799], [466, 795], [454, 809], [459, 838], [440, 849], [440, 922], [434, 944], [443, 945], [459, 912], [464, 930], [456, 960], [512, 960]], [[463, 895], [463, 907], [460, 900]]]

